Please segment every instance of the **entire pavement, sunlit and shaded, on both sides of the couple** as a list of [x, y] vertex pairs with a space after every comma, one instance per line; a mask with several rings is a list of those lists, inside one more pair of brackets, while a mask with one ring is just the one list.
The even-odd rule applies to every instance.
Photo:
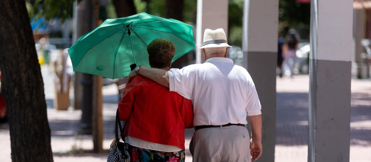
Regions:
[[[52, 68], [50, 68], [52, 69]], [[52, 134], [54, 161], [79, 162], [106, 161], [108, 152], [101, 154], [79, 153], [79, 149], [92, 150], [92, 136], [77, 135], [80, 110], [56, 111], [53, 109], [54, 85], [52, 73], [42, 66], [47, 101], [48, 120]], [[305, 162], [308, 149], [308, 75], [277, 78], [276, 162]], [[73, 92], [70, 92], [70, 99]], [[109, 149], [114, 139], [114, 119], [118, 103], [116, 85], [103, 88], [104, 94], [104, 149]], [[71, 100], [73, 101], [73, 100]], [[370, 80], [352, 80], [351, 101], [351, 162], [371, 161], [371, 84]], [[186, 130], [186, 161], [191, 161], [188, 145], [193, 134]], [[72, 153], [72, 154], [71, 154]], [[262, 156], [267, 156], [264, 154]], [[331, 156], [331, 155], [329, 155]], [[9, 126], [0, 125], [0, 162], [10, 159]]]

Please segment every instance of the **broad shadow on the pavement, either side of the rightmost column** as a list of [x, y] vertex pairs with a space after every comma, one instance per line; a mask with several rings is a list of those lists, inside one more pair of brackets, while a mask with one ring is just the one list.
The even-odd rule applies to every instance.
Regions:
[[[277, 93], [276, 145], [308, 145], [308, 93]], [[351, 145], [371, 144], [371, 95], [351, 94]]]

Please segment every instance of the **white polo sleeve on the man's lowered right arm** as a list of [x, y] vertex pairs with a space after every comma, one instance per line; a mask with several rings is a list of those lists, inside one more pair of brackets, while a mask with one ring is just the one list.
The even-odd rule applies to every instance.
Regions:
[[249, 88], [246, 99], [246, 111], [248, 116], [262, 114], [262, 106], [260, 105], [259, 97], [255, 89], [255, 85]]

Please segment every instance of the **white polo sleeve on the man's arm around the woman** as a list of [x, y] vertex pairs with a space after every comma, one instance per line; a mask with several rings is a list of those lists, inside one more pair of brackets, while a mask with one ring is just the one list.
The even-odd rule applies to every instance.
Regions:
[[194, 65], [188, 65], [182, 69], [170, 69], [168, 75], [170, 91], [177, 92], [184, 98], [191, 99], [196, 78]]

